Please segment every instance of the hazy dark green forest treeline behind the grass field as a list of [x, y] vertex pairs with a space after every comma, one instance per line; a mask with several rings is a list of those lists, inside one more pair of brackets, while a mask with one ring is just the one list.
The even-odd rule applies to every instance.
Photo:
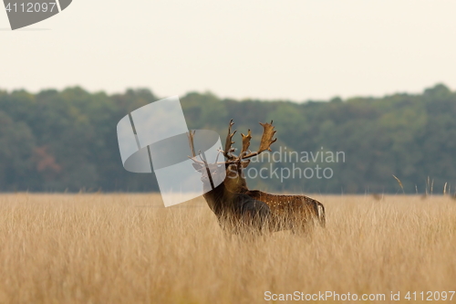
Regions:
[[[124, 170], [116, 126], [131, 110], [160, 99], [149, 89], [114, 95], [78, 87], [36, 94], [0, 90], [0, 191], [158, 191], [153, 173]], [[258, 122], [274, 120], [276, 154], [269, 152], [263, 162], [251, 163], [256, 173], [266, 168], [268, 178], [254, 178], [254, 171], [249, 172], [251, 188], [402, 194], [395, 175], [406, 194], [442, 194], [445, 183], [447, 192], [450, 187], [451, 193], [456, 190], [456, 92], [441, 84], [417, 95], [303, 103], [220, 99], [210, 92], [191, 92], [181, 96], [181, 105], [190, 129], [218, 131], [222, 142], [232, 118], [239, 133], [251, 129], [252, 151], [262, 135]], [[239, 147], [240, 134], [235, 141]], [[272, 162], [278, 152], [293, 162]], [[336, 152], [343, 152], [338, 162], [326, 159], [331, 154], [336, 158]], [[322, 169], [320, 178], [316, 165]], [[285, 178], [306, 168], [306, 177]], [[322, 177], [323, 169], [330, 178]]]

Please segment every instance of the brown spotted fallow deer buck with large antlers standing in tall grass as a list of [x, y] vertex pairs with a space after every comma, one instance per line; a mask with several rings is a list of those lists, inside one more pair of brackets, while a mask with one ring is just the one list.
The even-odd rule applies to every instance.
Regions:
[[[237, 223], [252, 226], [259, 230], [288, 230], [300, 231], [309, 225], [318, 223], [325, 226], [325, 207], [318, 201], [306, 195], [277, 195], [267, 194], [259, 190], [249, 190], [245, 181], [244, 169], [249, 165], [250, 158], [265, 151], [272, 151], [271, 144], [277, 139], [271, 123], [261, 123], [264, 128], [263, 136], [258, 151], [251, 152], [248, 148], [252, 139], [251, 131], [243, 137], [243, 147], [239, 156], [233, 154], [233, 136], [236, 131], [231, 131], [233, 120], [230, 121], [226, 137], [223, 156], [225, 162], [208, 164], [205, 160], [196, 160], [192, 143], [194, 132], [189, 133], [189, 141], [193, 154], [193, 166], [202, 173], [204, 187], [211, 186], [212, 176], [225, 171], [226, 177], [219, 186], [204, 194], [212, 212], [217, 215], [219, 224], [231, 227], [232, 232], [238, 232]], [[201, 155], [200, 155], [201, 156]], [[206, 188], [209, 189], [209, 188]], [[227, 219], [229, 219], [227, 221]], [[229, 223], [230, 225], [226, 225]]]

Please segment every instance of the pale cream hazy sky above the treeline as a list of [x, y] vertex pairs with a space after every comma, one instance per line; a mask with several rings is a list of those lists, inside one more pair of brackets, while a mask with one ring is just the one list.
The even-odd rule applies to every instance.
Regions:
[[2, 9], [0, 88], [295, 101], [455, 89], [455, 12], [454, 0], [73, 0], [10, 31]]

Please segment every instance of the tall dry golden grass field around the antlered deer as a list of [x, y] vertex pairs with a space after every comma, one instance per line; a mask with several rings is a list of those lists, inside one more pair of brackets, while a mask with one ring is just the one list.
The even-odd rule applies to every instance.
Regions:
[[0, 303], [264, 303], [265, 291], [327, 290], [389, 302], [390, 291], [456, 289], [455, 200], [315, 198], [326, 228], [246, 241], [226, 238], [202, 198], [164, 208], [158, 194], [2, 194]]

